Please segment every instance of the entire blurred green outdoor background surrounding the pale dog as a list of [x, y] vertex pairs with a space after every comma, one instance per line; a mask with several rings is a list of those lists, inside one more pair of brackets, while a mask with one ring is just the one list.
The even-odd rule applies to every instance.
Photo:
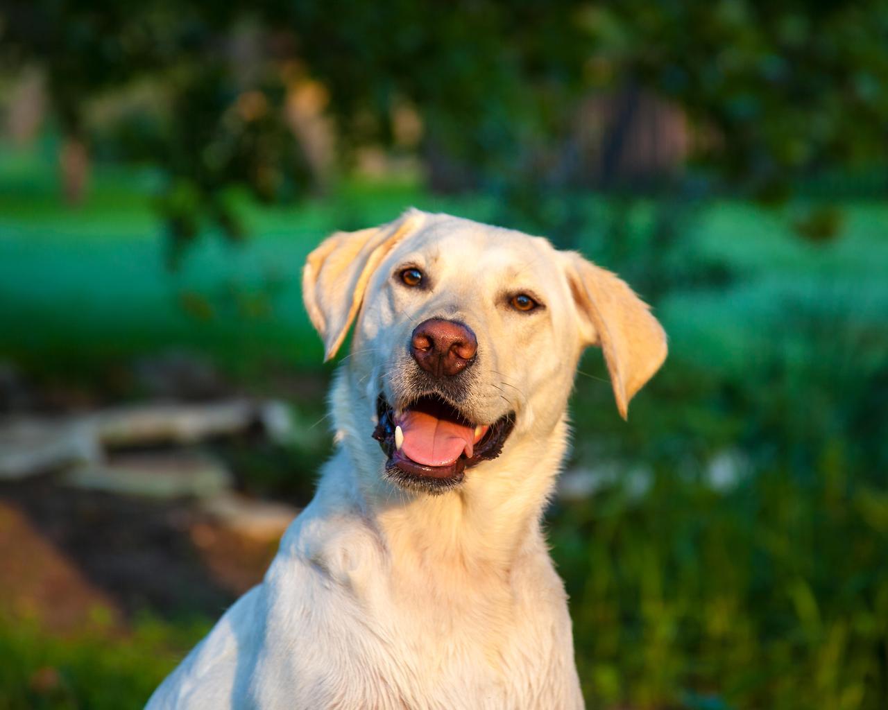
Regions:
[[547, 513], [591, 708], [888, 707], [888, 4], [6, 0], [0, 709], [137, 708], [329, 454], [299, 296], [415, 205], [619, 272]]

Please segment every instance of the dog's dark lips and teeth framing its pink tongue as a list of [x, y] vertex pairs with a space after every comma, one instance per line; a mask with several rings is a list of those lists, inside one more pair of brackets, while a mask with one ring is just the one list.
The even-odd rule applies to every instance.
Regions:
[[[379, 442], [385, 454], [385, 476], [401, 488], [416, 493], [428, 493], [440, 495], [454, 490], [465, 479], [465, 469], [477, 466], [481, 461], [496, 459], [503, 451], [503, 445], [515, 424], [514, 412], [503, 414], [496, 422], [484, 424], [471, 422], [455, 406], [450, 405], [437, 395], [426, 395], [418, 398], [411, 405], [405, 407], [405, 413], [411, 411], [433, 411], [443, 422], [450, 422], [457, 427], [478, 432], [479, 438], [466, 446], [466, 450], [459, 454], [453, 461], [445, 461], [441, 465], [432, 465], [429, 462], [415, 461], [410, 458], [406, 447], [402, 446], [403, 435], [396, 434], [400, 429], [395, 422], [395, 413], [392, 406], [380, 394], [377, 398], [377, 427], [373, 430], [372, 437]], [[430, 416], [427, 414], [427, 416]]]

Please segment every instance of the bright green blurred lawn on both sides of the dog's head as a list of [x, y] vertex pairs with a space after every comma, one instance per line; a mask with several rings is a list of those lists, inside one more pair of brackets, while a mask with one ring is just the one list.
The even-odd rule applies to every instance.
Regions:
[[[12, 153], [0, 162], [0, 355], [44, 374], [95, 374], [170, 346], [208, 351], [242, 373], [269, 359], [317, 367], [321, 346], [305, 318], [299, 273], [326, 234], [380, 223], [411, 204], [479, 218], [492, 212], [487, 201], [432, 198], [411, 185], [351, 185], [289, 208], [244, 201], [246, 244], [204, 234], [170, 272], [150, 172], [99, 170], [90, 198], [66, 208], [52, 170], [37, 157]], [[673, 353], [705, 353], [708, 367], [743, 367], [751, 346], [780, 331], [787, 311], [798, 308], [848, 318], [850, 327], [884, 324], [888, 207], [849, 202], [843, 209], [841, 238], [821, 245], [792, 233], [792, 208], [703, 208], [671, 258], [725, 264], [737, 280], [729, 288], [678, 288], [662, 299], [658, 315]], [[644, 204], [626, 218], [645, 233]], [[595, 255], [600, 239], [577, 241]]]

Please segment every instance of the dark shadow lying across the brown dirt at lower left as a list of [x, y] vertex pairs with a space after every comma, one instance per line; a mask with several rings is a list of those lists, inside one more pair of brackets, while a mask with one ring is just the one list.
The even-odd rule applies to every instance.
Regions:
[[0, 502], [24, 512], [129, 616], [146, 609], [165, 616], [218, 614], [242, 591], [235, 586], [261, 579], [270, 559], [267, 552], [248, 559], [231, 551], [228, 562], [243, 565], [240, 583], [219, 580], [208, 561], [214, 540], [207, 517], [186, 501], [82, 491], [39, 477], [4, 484]]

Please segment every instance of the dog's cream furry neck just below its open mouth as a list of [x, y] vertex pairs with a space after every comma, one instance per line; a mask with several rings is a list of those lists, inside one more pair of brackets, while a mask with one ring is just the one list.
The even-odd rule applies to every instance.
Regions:
[[[337, 376], [334, 404], [353, 391], [346, 378]], [[533, 437], [512, 436], [499, 457], [467, 469], [462, 485], [440, 495], [403, 491], [386, 479], [369, 416], [355, 421], [361, 407], [333, 408], [347, 413], [336, 422], [337, 439], [352, 462], [355, 504], [377, 529], [393, 564], [430, 574], [458, 570], [472, 579], [507, 577], [519, 556], [544, 552], [540, 518], [567, 450], [563, 407], [551, 425], [535, 427]]]

